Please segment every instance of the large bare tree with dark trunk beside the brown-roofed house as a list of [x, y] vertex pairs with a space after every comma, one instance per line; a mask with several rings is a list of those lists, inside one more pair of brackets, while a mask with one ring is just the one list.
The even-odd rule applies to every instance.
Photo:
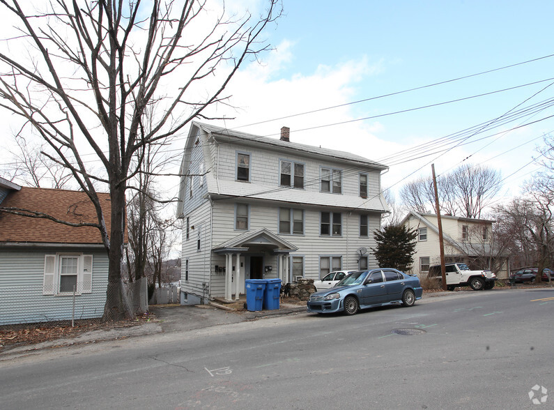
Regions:
[[[223, 91], [238, 68], [268, 48], [260, 36], [278, 17], [277, 3], [266, 0], [259, 18], [227, 17], [222, 7], [212, 19], [206, 0], [0, 0], [17, 26], [0, 44], [1, 107], [43, 138], [49, 158], [70, 169], [95, 206], [109, 255], [105, 319], [132, 316], [121, 261], [125, 192], [140, 172], [134, 153], [226, 103]], [[215, 3], [210, 7], [217, 10]], [[160, 109], [141, 134], [153, 103]], [[93, 157], [84, 155], [93, 155], [102, 172], [91, 172]], [[111, 195], [110, 232], [95, 181]]]

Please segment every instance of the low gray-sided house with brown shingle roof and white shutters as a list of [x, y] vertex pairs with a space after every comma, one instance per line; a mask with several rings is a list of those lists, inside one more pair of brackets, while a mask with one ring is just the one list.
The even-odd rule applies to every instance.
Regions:
[[[98, 197], [109, 231], [109, 194]], [[0, 208], [98, 223], [84, 192], [26, 188], [5, 179], [0, 179]], [[73, 314], [75, 319], [102, 317], [107, 279], [108, 257], [98, 228], [0, 211], [0, 325], [68, 320]]]

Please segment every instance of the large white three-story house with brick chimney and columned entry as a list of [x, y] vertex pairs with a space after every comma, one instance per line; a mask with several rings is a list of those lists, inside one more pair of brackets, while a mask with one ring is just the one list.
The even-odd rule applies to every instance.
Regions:
[[387, 167], [360, 155], [192, 123], [177, 215], [181, 303], [237, 300], [245, 280], [376, 266]]

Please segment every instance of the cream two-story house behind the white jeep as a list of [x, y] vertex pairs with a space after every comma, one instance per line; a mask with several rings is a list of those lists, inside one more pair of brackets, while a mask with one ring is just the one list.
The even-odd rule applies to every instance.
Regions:
[[[445, 262], [463, 262], [472, 269], [488, 269], [500, 279], [509, 274], [509, 255], [498, 249], [493, 238], [493, 220], [441, 215]], [[417, 231], [412, 273], [429, 273], [440, 264], [437, 215], [410, 211], [402, 225]]]

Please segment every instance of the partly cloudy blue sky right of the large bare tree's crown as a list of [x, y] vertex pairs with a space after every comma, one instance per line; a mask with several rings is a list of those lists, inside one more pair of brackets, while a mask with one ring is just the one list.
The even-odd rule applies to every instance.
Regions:
[[[240, 109], [229, 114], [236, 119], [219, 125], [275, 137], [288, 126], [291, 141], [350, 151], [390, 165], [383, 183], [395, 188], [431, 174], [431, 162], [440, 174], [470, 157], [466, 161], [494, 167], [507, 177], [502, 190], [507, 198], [517, 195], [523, 180], [537, 169], [523, 166], [537, 157], [535, 146], [544, 133], [554, 130], [553, 119], [498, 132], [554, 114], [552, 102], [525, 116], [517, 114], [553, 98], [554, 56], [539, 59], [554, 54], [553, 1], [284, 0], [283, 4], [283, 17], [267, 32], [275, 50], [264, 56], [262, 66], [249, 66], [236, 77], [232, 102]], [[534, 59], [539, 60], [375, 98]], [[538, 83], [523, 86], [533, 82]], [[513, 87], [519, 88], [492, 93]], [[492, 94], [470, 98], [484, 93]], [[462, 98], [468, 99], [417, 109]], [[404, 110], [412, 111], [384, 115]], [[479, 126], [475, 130], [479, 132], [461, 134], [468, 139], [458, 146], [445, 145], [449, 151], [411, 161], [395, 155], [404, 150], [416, 153], [420, 144], [509, 113], [513, 115], [503, 125], [489, 130]], [[247, 126], [272, 119], [277, 121]], [[433, 142], [420, 154], [439, 146]]]

